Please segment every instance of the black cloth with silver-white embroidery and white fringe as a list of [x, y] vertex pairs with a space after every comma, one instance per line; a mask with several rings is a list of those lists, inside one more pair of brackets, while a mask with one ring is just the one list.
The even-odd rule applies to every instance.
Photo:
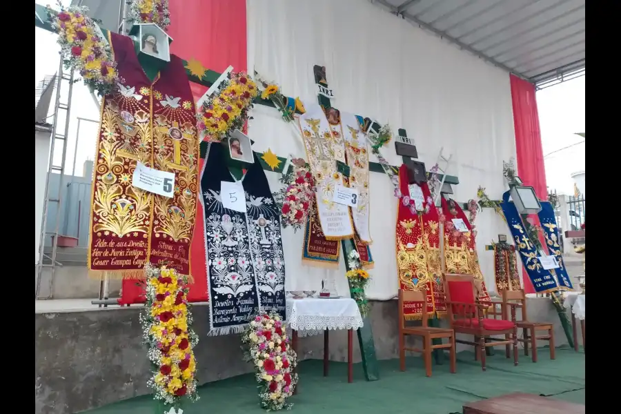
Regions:
[[[241, 332], [259, 308], [274, 309], [286, 320], [280, 210], [257, 155], [237, 181], [226, 166], [225, 150], [219, 143], [209, 144], [201, 173], [210, 335]], [[243, 187], [246, 211], [224, 207], [222, 181]]]

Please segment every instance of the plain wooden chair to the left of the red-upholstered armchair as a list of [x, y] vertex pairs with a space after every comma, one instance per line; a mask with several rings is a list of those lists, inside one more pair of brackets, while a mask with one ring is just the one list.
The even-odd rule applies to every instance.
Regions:
[[[422, 302], [422, 326], [406, 326], [403, 314], [404, 302]], [[455, 373], [455, 333], [450, 328], [432, 328], [427, 326], [427, 295], [420, 290], [399, 290], [399, 358], [401, 371], [405, 371], [405, 351], [420, 352], [425, 361], [425, 371], [431, 377], [431, 352], [437, 348], [449, 348], [451, 373]], [[406, 335], [422, 337], [423, 348], [405, 346]], [[431, 339], [448, 338], [448, 344], [432, 345]]]

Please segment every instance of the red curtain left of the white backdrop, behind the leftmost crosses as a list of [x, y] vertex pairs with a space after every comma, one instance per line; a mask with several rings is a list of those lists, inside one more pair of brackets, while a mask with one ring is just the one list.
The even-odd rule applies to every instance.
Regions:
[[[206, 69], [223, 72], [229, 65], [237, 72], [246, 66], [246, 0], [170, 0], [170, 26], [172, 37], [170, 52], [186, 61], [196, 59]], [[195, 101], [207, 90], [205, 86], [190, 83]], [[203, 162], [199, 160], [199, 168]], [[200, 169], [199, 169], [200, 172]], [[189, 302], [208, 300], [207, 270], [205, 264], [205, 216], [197, 202], [194, 237], [190, 246], [190, 272], [194, 284], [190, 285]], [[143, 288], [136, 280], [123, 281], [123, 296], [119, 303], [144, 302]]]

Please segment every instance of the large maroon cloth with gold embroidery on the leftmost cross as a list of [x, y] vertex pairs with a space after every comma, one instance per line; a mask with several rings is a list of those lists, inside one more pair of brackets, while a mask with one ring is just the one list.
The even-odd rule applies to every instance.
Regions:
[[[142, 278], [146, 262], [190, 275], [199, 143], [181, 59], [150, 81], [132, 39], [110, 32], [121, 82], [101, 102], [88, 242], [91, 276]], [[137, 161], [175, 172], [172, 198], [131, 185]]]

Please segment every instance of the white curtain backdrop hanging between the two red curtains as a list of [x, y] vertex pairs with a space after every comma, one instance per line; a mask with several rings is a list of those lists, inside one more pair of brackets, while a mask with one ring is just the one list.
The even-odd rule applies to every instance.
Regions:
[[[313, 66], [326, 66], [333, 106], [380, 123], [396, 133], [405, 128], [415, 139], [427, 169], [440, 148], [453, 155], [449, 174], [460, 179], [454, 199], [476, 198], [484, 186], [499, 199], [505, 184], [502, 160], [515, 157], [509, 75], [411, 26], [365, 0], [248, 0], [248, 72], [257, 70], [277, 82], [286, 96], [316, 102]], [[253, 149], [304, 157], [302, 141], [279, 113], [255, 106], [249, 135]], [[393, 142], [382, 149], [393, 165], [402, 163]], [[377, 161], [371, 156], [371, 161]], [[281, 184], [268, 172], [273, 191]], [[371, 172], [371, 271], [368, 297], [389, 299], [398, 283], [395, 262], [397, 199], [384, 174]], [[477, 248], [487, 286], [494, 289], [493, 253], [485, 244], [506, 234], [504, 221], [491, 209], [476, 221]], [[340, 295], [348, 295], [339, 270], [302, 264], [303, 232], [285, 229], [286, 290], [319, 290], [328, 272]]]

